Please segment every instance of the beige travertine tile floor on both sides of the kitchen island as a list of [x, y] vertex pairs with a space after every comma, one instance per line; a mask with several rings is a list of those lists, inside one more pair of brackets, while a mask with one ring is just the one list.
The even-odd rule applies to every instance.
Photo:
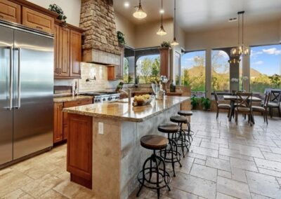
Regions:
[[[190, 152], [161, 198], [281, 198], [281, 118], [268, 125], [261, 116], [255, 119], [250, 127], [240, 117], [237, 126], [226, 114], [216, 120], [214, 113], [195, 111]], [[0, 170], [0, 198], [94, 198], [70, 182], [65, 155], [66, 145], [58, 146]], [[139, 198], [157, 194], [143, 188]]]

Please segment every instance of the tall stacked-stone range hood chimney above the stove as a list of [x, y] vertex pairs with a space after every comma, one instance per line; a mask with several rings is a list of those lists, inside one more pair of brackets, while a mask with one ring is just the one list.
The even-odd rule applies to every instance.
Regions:
[[80, 27], [86, 30], [82, 46], [84, 61], [100, 62], [94, 56], [122, 54], [117, 40], [112, 0], [81, 0]]

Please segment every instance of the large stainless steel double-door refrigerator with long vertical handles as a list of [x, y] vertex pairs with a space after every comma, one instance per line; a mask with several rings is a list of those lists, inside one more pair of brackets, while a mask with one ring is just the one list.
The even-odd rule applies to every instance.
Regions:
[[53, 146], [53, 35], [0, 20], [0, 167]]

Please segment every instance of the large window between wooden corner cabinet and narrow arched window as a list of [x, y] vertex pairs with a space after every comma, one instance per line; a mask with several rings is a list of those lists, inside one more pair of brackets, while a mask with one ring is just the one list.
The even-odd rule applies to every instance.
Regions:
[[190, 85], [192, 95], [205, 95], [205, 50], [185, 53], [181, 57], [181, 85]]

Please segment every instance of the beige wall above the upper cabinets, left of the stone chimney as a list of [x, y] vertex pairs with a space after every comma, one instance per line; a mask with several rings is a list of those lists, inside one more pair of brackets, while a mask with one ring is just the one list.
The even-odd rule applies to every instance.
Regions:
[[38, 6], [48, 8], [50, 4], [57, 4], [67, 16], [67, 23], [79, 27], [81, 0], [27, 0]]

